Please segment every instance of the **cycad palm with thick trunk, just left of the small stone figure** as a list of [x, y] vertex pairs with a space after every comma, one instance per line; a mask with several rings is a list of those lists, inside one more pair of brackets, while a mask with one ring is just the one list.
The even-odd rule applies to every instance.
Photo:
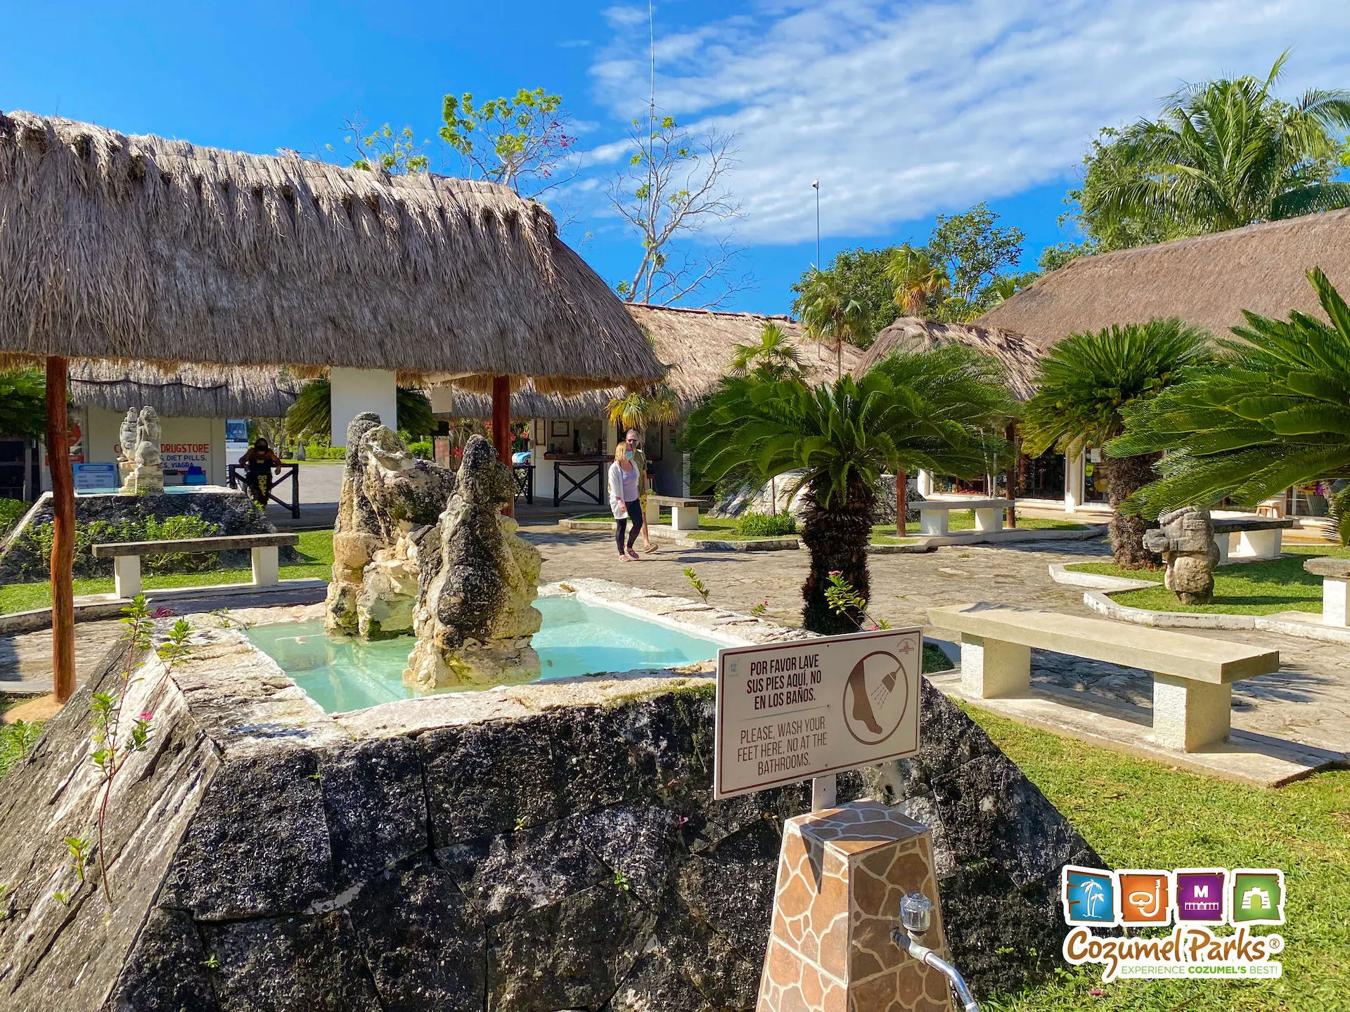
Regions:
[[[1158, 397], [1183, 370], [1210, 359], [1207, 339], [1206, 331], [1174, 318], [1069, 335], [1041, 359], [1035, 395], [1023, 405], [1026, 452], [1040, 456], [1054, 447], [1072, 457], [1084, 447], [1107, 447], [1125, 432], [1125, 412]], [[1156, 460], [1149, 451], [1103, 453], [1111, 552], [1115, 564], [1127, 569], [1156, 564], [1143, 548], [1143, 519], [1120, 509], [1153, 479]]]

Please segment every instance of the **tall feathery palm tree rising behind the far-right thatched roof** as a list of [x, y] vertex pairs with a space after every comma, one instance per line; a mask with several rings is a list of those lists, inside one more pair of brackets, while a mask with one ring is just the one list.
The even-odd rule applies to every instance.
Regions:
[[1270, 86], [1287, 57], [1265, 81], [1185, 88], [1157, 121], [1123, 130], [1104, 148], [1100, 182], [1084, 192], [1084, 216], [1103, 227], [1168, 221], [1166, 231], [1197, 235], [1350, 206], [1350, 184], [1330, 181], [1350, 92], [1276, 100]]

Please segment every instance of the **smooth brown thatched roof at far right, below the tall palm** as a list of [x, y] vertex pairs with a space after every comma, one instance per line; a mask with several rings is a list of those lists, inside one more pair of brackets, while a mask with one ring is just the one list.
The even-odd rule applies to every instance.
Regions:
[[1322, 316], [1304, 271], [1350, 293], [1350, 210], [1327, 210], [1135, 250], [1083, 256], [1000, 302], [977, 322], [1045, 349], [1079, 331], [1180, 316], [1226, 335], [1242, 310]]

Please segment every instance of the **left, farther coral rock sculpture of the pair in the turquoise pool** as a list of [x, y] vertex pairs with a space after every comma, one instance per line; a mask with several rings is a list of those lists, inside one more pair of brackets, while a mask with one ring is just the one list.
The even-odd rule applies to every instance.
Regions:
[[329, 631], [367, 640], [412, 631], [418, 545], [454, 487], [454, 472], [414, 457], [379, 416], [352, 418], [333, 526]]

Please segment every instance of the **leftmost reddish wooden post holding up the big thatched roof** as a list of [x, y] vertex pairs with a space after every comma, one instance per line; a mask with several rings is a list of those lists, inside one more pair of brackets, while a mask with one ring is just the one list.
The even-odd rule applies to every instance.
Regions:
[[47, 359], [47, 467], [51, 471], [51, 684], [58, 703], [76, 691], [76, 490], [66, 421], [66, 360]]

